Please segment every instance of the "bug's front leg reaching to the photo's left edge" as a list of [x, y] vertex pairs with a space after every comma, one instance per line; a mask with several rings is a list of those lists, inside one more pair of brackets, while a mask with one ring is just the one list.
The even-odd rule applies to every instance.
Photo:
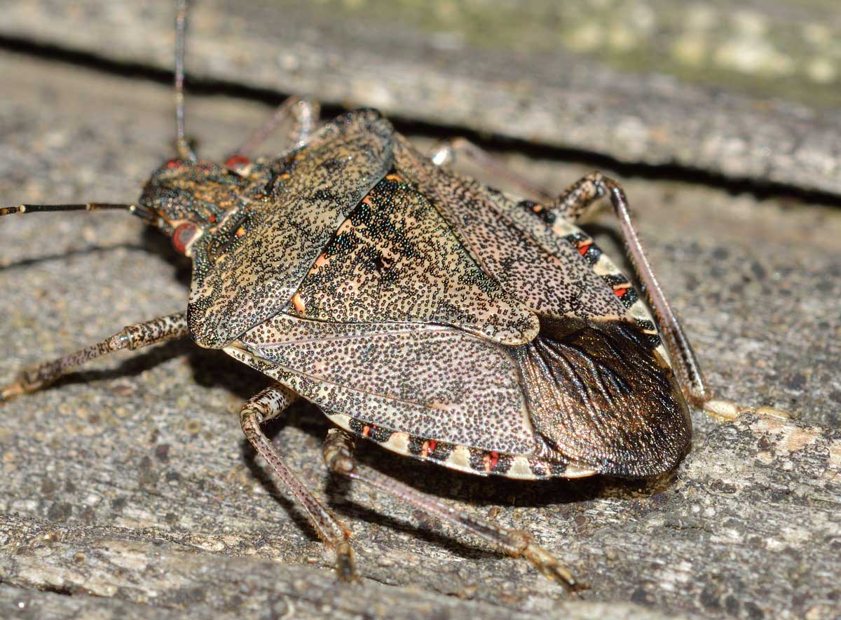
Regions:
[[172, 340], [188, 336], [187, 315], [179, 312], [174, 315], [161, 316], [151, 321], [137, 323], [124, 327], [114, 336], [110, 336], [90, 347], [85, 347], [64, 355], [50, 362], [40, 363], [31, 368], [24, 368], [13, 383], [0, 389], [0, 402], [10, 400], [15, 396], [34, 392], [61, 377], [72, 368], [93, 358], [106, 355], [120, 349], [137, 349], [147, 347], [157, 342]]

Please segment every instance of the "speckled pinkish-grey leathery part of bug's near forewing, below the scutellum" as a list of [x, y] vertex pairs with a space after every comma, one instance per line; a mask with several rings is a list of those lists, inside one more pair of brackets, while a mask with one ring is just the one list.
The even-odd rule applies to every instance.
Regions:
[[277, 315], [235, 347], [327, 411], [441, 442], [535, 451], [510, 349], [484, 338], [447, 326]]

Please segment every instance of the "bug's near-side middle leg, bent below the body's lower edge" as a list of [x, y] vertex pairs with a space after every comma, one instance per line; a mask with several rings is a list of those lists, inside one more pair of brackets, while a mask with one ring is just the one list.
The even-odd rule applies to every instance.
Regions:
[[289, 490], [304, 513], [315, 528], [315, 532], [336, 553], [336, 571], [343, 581], [357, 580], [356, 567], [353, 562], [353, 549], [348, 539], [350, 530], [336, 520], [329, 511], [315, 498], [309, 489], [301, 482], [292, 469], [283, 462], [283, 456], [274, 444], [262, 432], [260, 425], [271, 420], [285, 411], [297, 398], [297, 395], [281, 384], [275, 384], [252, 396], [242, 405], [240, 410], [240, 424], [246, 438], [278, 474], [283, 485]]

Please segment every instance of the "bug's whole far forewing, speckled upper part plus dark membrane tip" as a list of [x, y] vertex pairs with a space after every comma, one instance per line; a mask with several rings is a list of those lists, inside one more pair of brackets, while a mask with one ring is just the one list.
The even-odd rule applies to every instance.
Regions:
[[[542, 439], [603, 474], [674, 466], [690, 442], [689, 411], [662, 347], [639, 320], [641, 304], [623, 304], [610, 276], [505, 194], [435, 167], [402, 136], [394, 161], [482, 268], [540, 316], [539, 335], [510, 352]], [[580, 232], [564, 223], [569, 231]]]

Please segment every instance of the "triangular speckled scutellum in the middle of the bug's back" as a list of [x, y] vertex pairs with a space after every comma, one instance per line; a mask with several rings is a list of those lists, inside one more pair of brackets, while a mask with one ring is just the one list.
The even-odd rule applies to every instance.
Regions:
[[319, 321], [414, 321], [503, 344], [537, 316], [479, 268], [426, 196], [396, 174], [377, 184], [316, 259], [288, 312]]

